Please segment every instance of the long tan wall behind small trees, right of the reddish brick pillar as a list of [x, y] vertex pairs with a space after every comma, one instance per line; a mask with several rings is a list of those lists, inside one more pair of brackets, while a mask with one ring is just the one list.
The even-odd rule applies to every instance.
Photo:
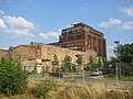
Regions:
[[91, 53], [91, 52], [79, 52], [79, 51], [71, 51], [68, 48], [60, 48], [55, 46], [50, 46], [50, 45], [43, 45], [42, 46], [42, 58], [43, 59], [53, 59], [53, 55], [57, 54], [60, 64], [64, 59], [65, 55], [69, 55], [72, 57], [72, 63], [75, 64], [78, 57], [75, 55], [80, 54], [83, 55], [83, 62], [88, 62], [90, 55], [93, 55], [93, 57], [96, 58], [96, 54]]

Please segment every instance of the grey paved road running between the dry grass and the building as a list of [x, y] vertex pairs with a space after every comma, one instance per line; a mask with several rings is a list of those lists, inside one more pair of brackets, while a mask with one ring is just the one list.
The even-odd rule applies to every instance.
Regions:
[[[73, 78], [71, 76], [68, 76], [68, 77], [51, 77], [51, 76], [45, 76], [45, 77], [35, 77], [35, 79], [45, 79], [45, 78], [52, 78], [52, 79], [63, 79], [63, 80], [75, 80], [75, 81], [83, 81], [83, 76], [73, 76]], [[100, 76], [90, 76], [90, 75], [86, 75], [84, 76], [84, 81], [86, 82], [91, 82], [91, 84], [100, 84], [100, 85], [111, 85], [113, 86], [116, 80], [110, 80], [110, 79], [105, 79], [105, 78], [102, 78]], [[133, 86], [133, 81], [120, 81], [119, 80], [119, 84], [121, 86]]]

